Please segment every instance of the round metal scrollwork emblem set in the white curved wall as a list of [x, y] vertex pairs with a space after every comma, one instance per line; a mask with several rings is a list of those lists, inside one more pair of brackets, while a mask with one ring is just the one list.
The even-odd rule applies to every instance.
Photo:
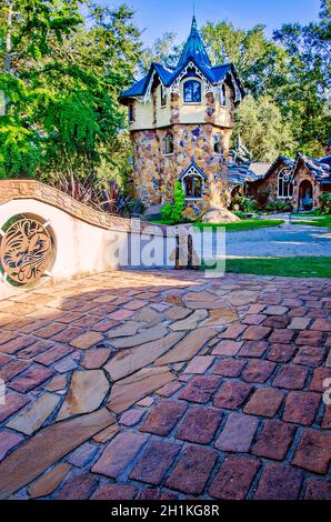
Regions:
[[47, 271], [52, 250], [52, 238], [43, 224], [28, 217], [18, 219], [1, 238], [0, 270], [13, 284], [31, 284]]

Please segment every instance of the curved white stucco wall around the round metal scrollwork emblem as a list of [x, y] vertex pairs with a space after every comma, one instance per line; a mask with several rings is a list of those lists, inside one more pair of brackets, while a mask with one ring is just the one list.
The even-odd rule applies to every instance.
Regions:
[[[58, 282], [81, 274], [114, 270], [119, 267], [116, 251], [118, 249], [121, 249], [122, 253], [127, 251], [130, 235], [127, 231], [94, 227], [69, 215], [66, 211], [33, 199], [11, 200], [0, 205], [0, 228], [10, 218], [21, 213], [34, 214], [49, 221], [53, 232], [56, 241], [54, 263], [50, 270], [51, 278], [42, 278], [43, 281]], [[136, 241], [134, 254], [138, 254], [139, 258], [139, 248], [140, 251], [143, 250], [151, 237], [146, 233], [133, 233], [132, 237]], [[163, 247], [163, 238], [153, 237], [152, 239], [156, 250], [160, 252]], [[170, 247], [168, 248], [170, 249]], [[167, 254], [167, 259], [169, 259], [169, 255]], [[128, 261], [130, 264], [130, 255]], [[158, 264], [161, 265], [160, 259], [156, 259], [156, 265]], [[169, 260], [167, 264], [171, 265], [173, 261]], [[21, 291], [3, 281], [3, 279], [0, 280], [0, 300]]]

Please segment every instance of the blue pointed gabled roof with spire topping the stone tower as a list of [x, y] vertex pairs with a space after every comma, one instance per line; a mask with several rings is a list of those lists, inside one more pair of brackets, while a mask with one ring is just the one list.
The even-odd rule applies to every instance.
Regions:
[[169, 68], [162, 66], [161, 63], [152, 63], [148, 74], [144, 78], [133, 83], [133, 86], [121, 93], [120, 102], [127, 104], [130, 98], [143, 97], [154, 73], [159, 77], [164, 87], [172, 86], [181, 72], [184, 71], [187, 66], [191, 62], [213, 86], [215, 86], [219, 81], [222, 81], [228, 73], [231, 73], [238, 84], [241, 96], [244, 97], [244, 89], [232, 63], [212, 67], [198, 31], [195, 17], [193, 17], [191, 32], [177, 67]]

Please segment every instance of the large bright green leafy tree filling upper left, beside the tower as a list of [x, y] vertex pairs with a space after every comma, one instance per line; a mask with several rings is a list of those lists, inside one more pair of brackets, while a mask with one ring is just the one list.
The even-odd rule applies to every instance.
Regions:
[[133, 13], [88, 3], [86, 24], [80, 4], [14, 0], [1, 11], [1, 177], [93, 172], [126, 128], [117, 99], [140, 51]]

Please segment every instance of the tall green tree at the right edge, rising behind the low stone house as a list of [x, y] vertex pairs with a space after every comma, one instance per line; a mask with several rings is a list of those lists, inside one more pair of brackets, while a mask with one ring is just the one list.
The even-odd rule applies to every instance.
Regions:
[[330, 0], [321, 2], [320, 20], [305, 27], [284, 24], [274, 40], [289, 56], [289, 81], [277, 99], [292, 121], [299, 149], [311, 155], [323, 153], [331, 134], [328, 98], [331, 70]]

